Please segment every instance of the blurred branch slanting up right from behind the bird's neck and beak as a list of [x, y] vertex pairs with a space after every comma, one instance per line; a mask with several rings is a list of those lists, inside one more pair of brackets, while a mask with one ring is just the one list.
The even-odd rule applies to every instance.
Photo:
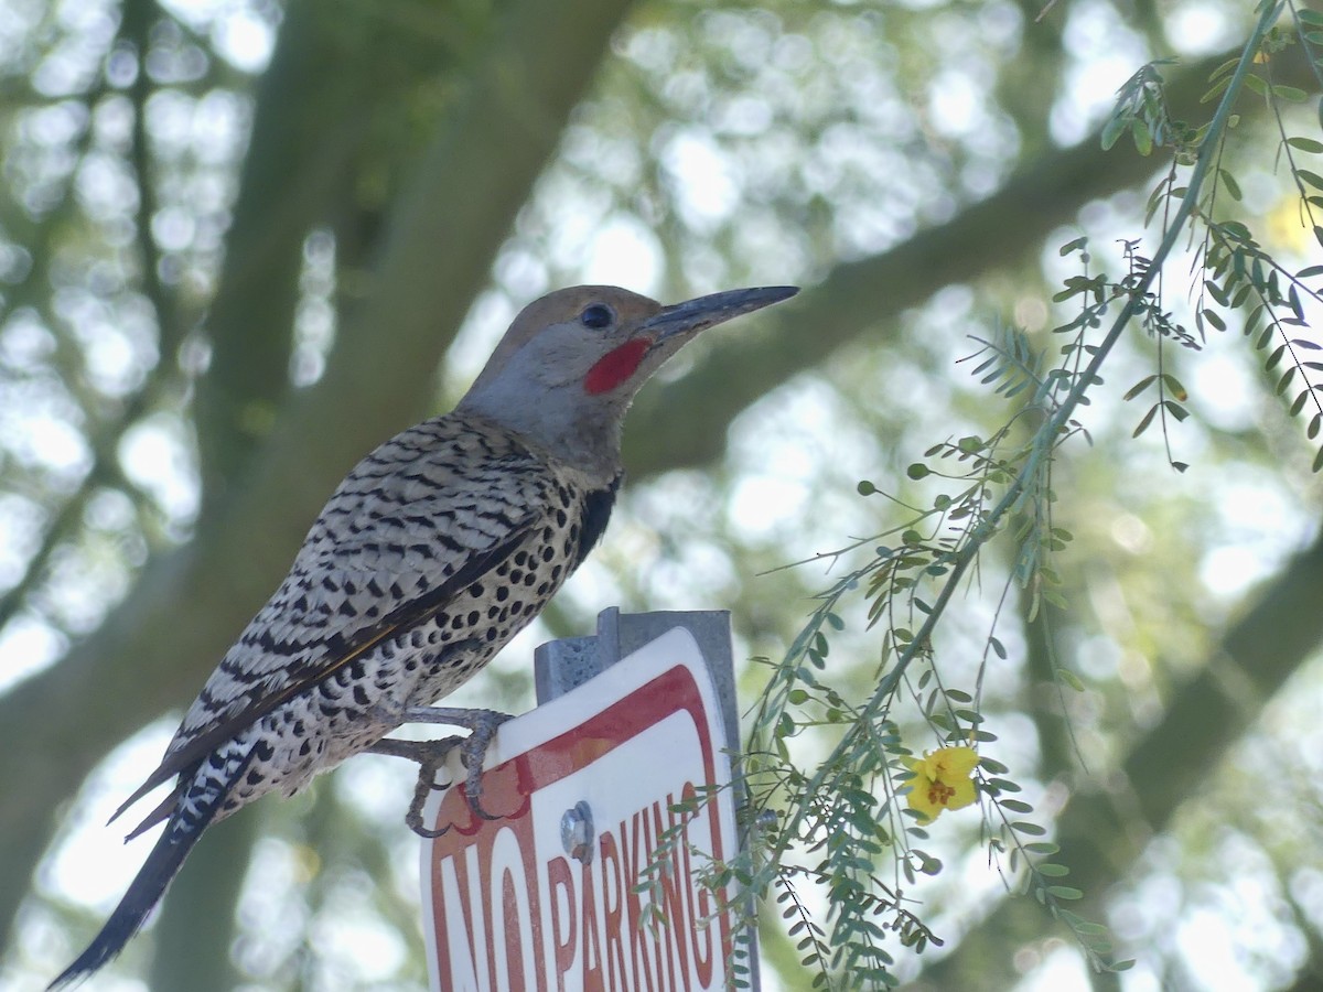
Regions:
[[[1196, 116], [1209, 73], [1233, 54], [1168, 73], [1167, 97], [1176, 116]], [[1281, 71], [1283, 82], [1318, 90], [1306, 60], [1283, 60]], [[1253, 103], [1244, 108], [1246, 116], [1261, 111]], [[773, 388], [853, 341], [871, 339], [876, 347], [878, 339], [896, 333], [894, 321], [905, 310], [945, 286], [1017, 265], [1090, 200], [1132, 188], [1166, 167], [1127, 143], [1103, 155], [1099, 142], [1101, 131], [1073, 148], [1044, 151], [996, 193], [949, 222], [882, 254], [836, 266], [811, 292], [762, 315], [757, 336], [714, 339], [692, 374], [639, 397], [632, 423], [664, 423], [665, 429], [627, 431], [626, 468], [647, 475], [710, 462], [725, 447], [721, 426]], [[775, 276], [767, 274], [773, 282]]]

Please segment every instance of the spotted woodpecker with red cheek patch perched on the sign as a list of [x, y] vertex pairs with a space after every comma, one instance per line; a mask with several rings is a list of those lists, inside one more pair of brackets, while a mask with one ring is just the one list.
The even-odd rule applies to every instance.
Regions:
[[[213, 823], [294, 795], [410, 721], [468, 726], [470, 795], [496, 721], [431, 706], [486, 665], [582, 562], [620, 485], [634, 395], [699, 332], [795, 295], [732, 290], [671, 307], [611, 286], [531, 303], [448, 414], [360, 462], [290, 574], [225, 653], [119, 816], [173, 779], [134, 829], [164, 823], [124, 898], [52, 984], [119, 954]], [[115, 817], [111, 817], [112, 820]]]

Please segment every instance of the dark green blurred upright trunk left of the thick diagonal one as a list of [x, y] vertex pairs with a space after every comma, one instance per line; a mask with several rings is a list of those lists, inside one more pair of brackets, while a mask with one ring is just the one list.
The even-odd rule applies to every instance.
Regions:
[[208, 507], [242, 479], [287, 398], [303, 242], [349, 197], [372, 111], [364, 56], [376, 49], [345, 57], [335, 12], [315, 7], [290, 4], [258, 85], [225, 266], [205, 320], [212, 354], [193, 422]]

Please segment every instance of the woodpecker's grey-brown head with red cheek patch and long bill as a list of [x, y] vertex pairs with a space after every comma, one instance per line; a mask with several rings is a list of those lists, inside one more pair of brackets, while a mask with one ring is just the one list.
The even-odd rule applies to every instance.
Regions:
[[459, 410], [590, 474], [614, 472], [624, 413], [667, 358], [705, 328], [796, 292], [730, 290], [663, 307], [615, 286], [557, 290], [515, 317]]

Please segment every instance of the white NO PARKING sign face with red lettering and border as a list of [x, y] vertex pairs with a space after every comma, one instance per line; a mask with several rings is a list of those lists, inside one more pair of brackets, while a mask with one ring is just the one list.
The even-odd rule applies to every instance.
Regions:
[[[725, 988], [730, 921], [696, 874], [709, 857], [734, 856], [734, 799], [722, 790], [697, 813], [671, 809], [699, 786], [730, 782], [724, 747], [710, 676], [683, 628], [504, 723], [480, 799], [499, 819], [474, 815], [460, 787], [425, 811], [429, 827], [450, 827], [422, 852], [431, 988]], [[463, 782], [458, 754], [447, 768]], [[568, 816], [591, 824], [578, 848], [562, 835]], [[676, 827], [665, 870], [646, 874]]]

